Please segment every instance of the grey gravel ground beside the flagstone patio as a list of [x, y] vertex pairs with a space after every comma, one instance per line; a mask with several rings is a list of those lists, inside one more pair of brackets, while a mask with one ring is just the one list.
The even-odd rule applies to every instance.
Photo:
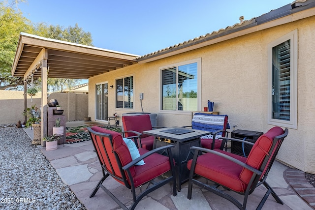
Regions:
[[23, 128], [0, 124], [1, 210], [86, 210]]

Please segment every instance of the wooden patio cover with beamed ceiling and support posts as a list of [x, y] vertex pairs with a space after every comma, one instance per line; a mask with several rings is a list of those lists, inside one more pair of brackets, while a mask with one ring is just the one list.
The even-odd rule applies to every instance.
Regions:
[[[20, 33], [12, 76], [24, 78], [24, 106], [27, 109], [27, 83], [42, 79], [41, 137], [47, 135], [47, 78], [89, 79], [90, 77], [137, 63], [137, 55], [111, 51]], [[46, 125], [46, 126], [44, 126]], [[43, 142], [42, 142], [43, 144]]]

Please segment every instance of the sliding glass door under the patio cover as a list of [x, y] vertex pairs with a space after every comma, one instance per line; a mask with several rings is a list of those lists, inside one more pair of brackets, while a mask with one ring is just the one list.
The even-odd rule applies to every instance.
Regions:
[[107, 120], [108, 117], [108, 84], [96, 85], [96, 120]]

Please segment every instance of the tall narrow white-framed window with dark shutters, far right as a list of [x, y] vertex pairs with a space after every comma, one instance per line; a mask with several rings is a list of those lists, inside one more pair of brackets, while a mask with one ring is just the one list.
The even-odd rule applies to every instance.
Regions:
[[268, 45], [268, 124], [297, 129], [298, 31]]

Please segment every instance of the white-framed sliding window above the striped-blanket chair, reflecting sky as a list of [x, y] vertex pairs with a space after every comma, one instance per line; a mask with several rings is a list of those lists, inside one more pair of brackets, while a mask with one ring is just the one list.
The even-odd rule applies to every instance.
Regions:
[[200, 69], [201, 58], [159, 68], [161, 112], [191, 112], [200, 109]]

